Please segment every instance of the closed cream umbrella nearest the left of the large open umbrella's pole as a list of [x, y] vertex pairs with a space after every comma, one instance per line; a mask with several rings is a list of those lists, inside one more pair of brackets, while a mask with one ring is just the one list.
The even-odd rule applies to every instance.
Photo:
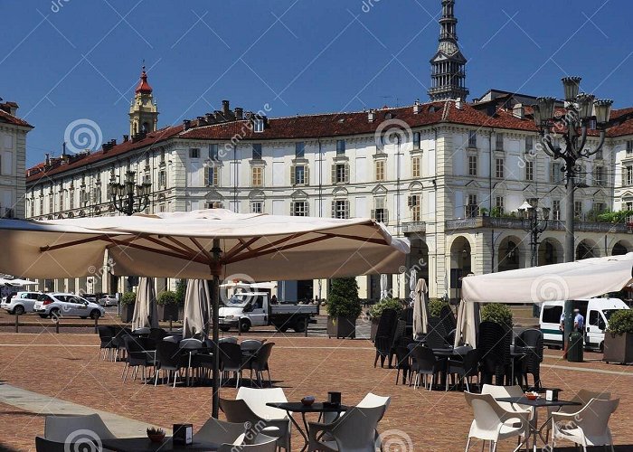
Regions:
[[211, 291], [207, 281], [190, 279], [184, 293], [183, 337], [204, 339], [211, 329]]

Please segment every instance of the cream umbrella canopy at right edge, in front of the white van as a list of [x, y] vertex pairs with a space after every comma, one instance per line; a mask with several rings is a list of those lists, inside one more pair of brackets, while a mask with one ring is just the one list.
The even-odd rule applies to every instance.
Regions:
[[633, 253], [464, 278], [461, 297], [478, 303], [543, 303], [599, 297], [631, 280]]

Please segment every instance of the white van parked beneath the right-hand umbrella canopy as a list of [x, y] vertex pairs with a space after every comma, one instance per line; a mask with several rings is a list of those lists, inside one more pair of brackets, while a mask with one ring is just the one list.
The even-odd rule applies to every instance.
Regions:
[[[584, 342], [585, 348], [602, 351], [604, 330], [609, 325], [609, 317], [619, 309], [629, 307], [619, 298], [590, 298], [588, 300], [573, 300], [573, 308], [580, 309], [585, 319]], [[564, 301], [550, 301], [541, 305], [540, 328], [543, 332], [543, 344], [562, 346], [561, 325]]]

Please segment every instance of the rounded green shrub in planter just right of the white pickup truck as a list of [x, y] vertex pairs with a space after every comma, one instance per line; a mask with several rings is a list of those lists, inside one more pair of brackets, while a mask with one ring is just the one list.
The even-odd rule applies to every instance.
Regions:
[[327, 336], [356, 337], [356, 319], [361, 315], [356, 278], [332, 280], [327, 297]]

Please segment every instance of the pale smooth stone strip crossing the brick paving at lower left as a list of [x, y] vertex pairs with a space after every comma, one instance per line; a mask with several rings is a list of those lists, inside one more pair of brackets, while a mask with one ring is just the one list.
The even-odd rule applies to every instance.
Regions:
[[0, 403], [12, 405], [20, 410], [46, 415], [97, 413], [118, 438], [144, 437], [146, 428], [151, 427], [145, 422], [118, 416], [108, 411], [95, 410], [70, 401], [55, 399], [37, 392], [26, 391], [10, 384], [0, 384]]

